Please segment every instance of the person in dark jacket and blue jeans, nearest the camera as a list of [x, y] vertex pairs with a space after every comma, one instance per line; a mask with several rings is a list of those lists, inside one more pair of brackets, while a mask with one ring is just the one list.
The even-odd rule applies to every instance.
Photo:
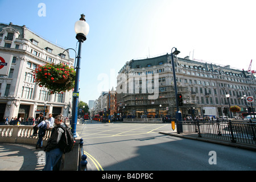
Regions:
[[51, 137], [48, 139], [46, 148], [46, 165], [44, 166], [43, 171], [52, 171], [53, 167], [57, 164], [61, 156], [63, 155], [63, 151], [59, 148], [59, 142], [64, 134], [64, 130], [61, 127], [67, 127], [65, 123], [63, 123], [62, 115], [57, 115], [55, 117], [55, 127], [52, 129]]

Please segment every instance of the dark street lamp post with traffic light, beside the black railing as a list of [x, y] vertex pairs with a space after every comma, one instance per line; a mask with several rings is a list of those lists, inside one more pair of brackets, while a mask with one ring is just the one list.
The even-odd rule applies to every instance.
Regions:
[[175, 48], [174, 52], [172, 52], [172, 50], [171, 50], [171, 59], [172, 59], [172, 73], [174, 73], [174, 90], [175, 90], [176, 109], [177, 109], [177, 111], [175, 113], [175, 118], [177, 121], [177, 133], [179, 134], [183, 130], [182, 130], [182, 125], [179, 125], [179, 121], [181, 121], [182, 117], [181, 117], [181, 112], [179, 109], [179, 101], [177, 98], [177, 82], [176, 82], [176, 74], [175, 74], [174, 55], [178, 55], [180, 53], [180, 51], [178, 51], [176, 47], [173, 47], [172, 49], [174, 49], [174, 48]]

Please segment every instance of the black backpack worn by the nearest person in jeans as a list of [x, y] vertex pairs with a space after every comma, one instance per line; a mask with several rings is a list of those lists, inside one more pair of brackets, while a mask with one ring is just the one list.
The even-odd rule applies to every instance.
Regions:
[[71, 133], [70, 128], [65, 125], [65, 126], [57, 126], [57, 127], [61, 127], [61, 129], [64, 130], [64, 133], [62, 134], [61, 138], [60, 138], [60, 142], [59, 142], [59, 148], [61, 151], [63, 151], [63, 153], [67, 153], [73, 150], [73, 147], [75, 146], [76, 143], [76, 139], [73, 136], [73, 134]]

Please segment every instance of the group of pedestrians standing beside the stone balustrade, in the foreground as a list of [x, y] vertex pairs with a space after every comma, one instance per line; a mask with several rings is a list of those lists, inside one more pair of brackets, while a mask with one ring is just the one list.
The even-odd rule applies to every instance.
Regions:
[[31, 135], [31, 137], [38, 135], [36, 149], [42, 148], [43, 137], [44, 135], [46, 135], [46, 123], [49, 122], [50, 127], [53, 127], [53, 125], [55, 125], [55, 127], [53, 127], [51, 131], [51, 137], [47, 140], [46, 147], [44, 148], [44, 151], [46, 152], [46, 165], [44, 166], [43, 171], [52, 171], [53, 169], [59, 169], [58, 162], [63, 155], [63, 151], [60, 150], [58, 144], [62, 135], [64, 134], [64, 130], [63, 128], [57, 126], [63, 126], [64, 128], [67, 127], [67, 125], [65, 125], [64, 123], [63, 115], [57, 115], [55, 118], [52, 117], [52, 114], [49, 114], [48, 116], [49, 117], [44, 117], [43, 113], [39, 114], [38, 123], [33, 127], [34, 133], [33, 135]]

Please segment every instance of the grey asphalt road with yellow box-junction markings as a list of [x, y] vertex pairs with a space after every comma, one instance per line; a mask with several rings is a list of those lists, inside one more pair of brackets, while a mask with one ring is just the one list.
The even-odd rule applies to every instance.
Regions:
[[170, 123], [77, 125], [93, 171], [254, 171], [256, 154], [241, 148], [171, 137]]

